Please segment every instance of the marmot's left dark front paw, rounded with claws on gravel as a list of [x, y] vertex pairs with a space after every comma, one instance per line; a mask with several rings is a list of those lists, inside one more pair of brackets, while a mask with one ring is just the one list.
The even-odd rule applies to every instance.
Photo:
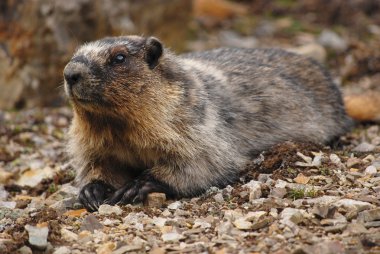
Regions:
[[79, 201], [89, 211], [97, 211], [104, 200], [115, 191], [115, 188], [102, 181], [85, 185], [79, 193]]

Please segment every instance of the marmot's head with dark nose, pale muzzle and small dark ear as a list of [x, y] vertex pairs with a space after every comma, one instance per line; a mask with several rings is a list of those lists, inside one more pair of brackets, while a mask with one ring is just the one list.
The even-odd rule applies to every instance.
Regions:
[[110, 37], [83, 45], [64, 69], [65, 92], [75, 108], [118, 112], [157, 101], [164, 83], [163, 46], [154, 37]]

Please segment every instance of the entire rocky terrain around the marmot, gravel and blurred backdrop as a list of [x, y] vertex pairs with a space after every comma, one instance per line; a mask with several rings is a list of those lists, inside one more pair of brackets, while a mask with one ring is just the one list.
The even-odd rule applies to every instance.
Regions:
[[[62, 69], [83, 42], [122, 34], [155, 35], [178, 53], [313, 57], [362, 122], [338, 147], [273, 147], [225, 189], [89, 214], [70, 185]], [[380, 253], [379, 94], [378, 0], [3, 0], [0, 253]]]

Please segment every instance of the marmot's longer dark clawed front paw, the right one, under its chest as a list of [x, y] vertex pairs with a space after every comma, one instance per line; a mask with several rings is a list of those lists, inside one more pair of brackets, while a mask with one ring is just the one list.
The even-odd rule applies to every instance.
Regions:
[[170, 198], [176, 196], [176, 192], [167, 184], [155, 180], [150, 175], [144, 175], [118, 189], [105, 203], [110, 205], [139, 203], [152, 192], [165, 193]]

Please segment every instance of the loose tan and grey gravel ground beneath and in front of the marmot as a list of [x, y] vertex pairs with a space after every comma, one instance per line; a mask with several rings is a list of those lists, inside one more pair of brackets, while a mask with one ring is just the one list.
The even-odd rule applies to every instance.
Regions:
[[90, 214], [63, 164], [70, 118], [69, 108], [1, 113], [1, 253], [380, 253], [379, 125], [337, 148], [275, 146], [201, 197]]

